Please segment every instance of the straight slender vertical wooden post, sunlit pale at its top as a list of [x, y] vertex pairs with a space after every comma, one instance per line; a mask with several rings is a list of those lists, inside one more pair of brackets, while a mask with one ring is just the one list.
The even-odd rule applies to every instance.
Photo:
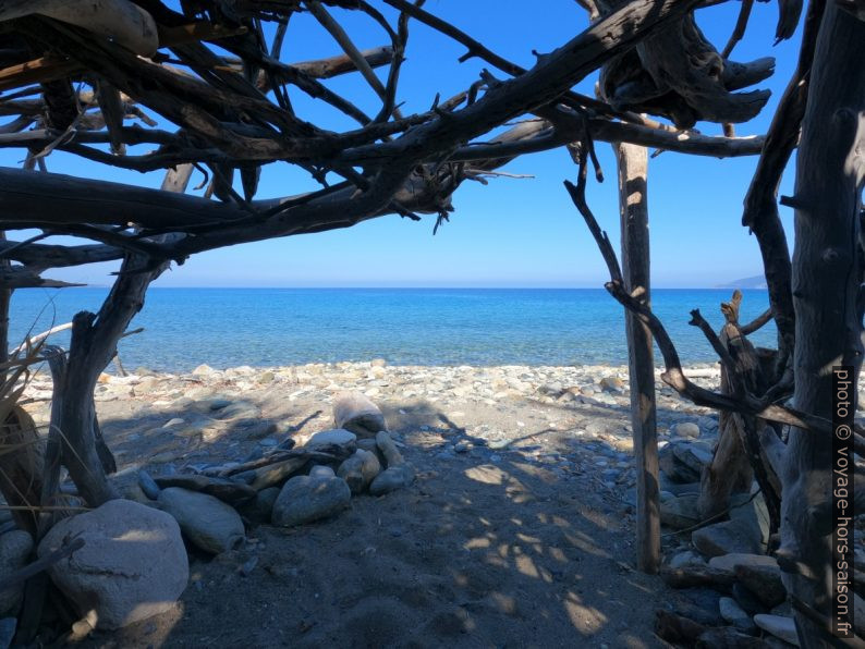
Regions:
[[[625, 289], [649, 303], [649, 235], [646, 197], [646, 148], [617, 143], [619, 212], [622, 228], [622, 273]], [[655, 363], [648, 328], [625, 311], [631, 425], [636, 462], [637, 567], [649, 574], [660, 566], [660, 499], [658, 489], [658, 431], [655, 421]]]

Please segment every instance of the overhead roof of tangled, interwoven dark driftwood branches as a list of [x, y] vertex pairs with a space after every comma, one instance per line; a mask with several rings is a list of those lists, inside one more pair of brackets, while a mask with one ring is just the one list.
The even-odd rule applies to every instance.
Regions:
[[[155, 268], [206, 249], [386, 213], [447, 218], [464, 180], [522, 154], [578, 143], [590, 148], [593, 138], [717, 157], [759, 152], [759, 137], [691, 130], [708, 120], [727, 124], [729, 134], [729, 124], [754, 117], [768, 91], [739, 90], [773, 68], [771, 59], [730, 61], [734, 39], [719, 53], [693, 20], [707, 2], [581, 3], [592, 25], [524, 70], [409, 0], [181, 0], [175, 9], [159, 0], [0, 2], [0, 146], [28, 151], [25, 169], [0, 169], [0, 228], [41, 233], [2, 242], [0, 255], [17, 262], [5, 283], [38, 285], [47, 268], [127, 253]], [[751, 4], [742, 3], [743, 14]], [[781, 1], [779, 37], [795, 25], [790, 4]], [[382, 45], [358, 50], [334, 19], [343, 10], [370, 16]], [[282, 61], [297, 12], [315, 16], [342, 52]], [[424, 112], [403, 114], [400, 68], [414, 21], [460, 42], [463, 59], [480, 58], [492, 72]], [[572, 90], [601, 66], [602, 100]], [[361, 75], [376, 91], [375, 114], [331, 88], [328, 79], [343, 74]], [[289, 87], [356, 126], [337, 133], [296, 114]], [[646, 112], [673, 125], [639, 114]], [[519, 118], [516, 126], [489, 136]], [[150, 152], [127, 152], [139, 144]], [[170, 172], [161, 191], [35, 173], [53, 150]], [[256, 199], [261, 166], [277, 161], [305, 170], [321, 188]], [[208, 179], [205, 197], [183, 194], [193, 169]], [[328, 183], [334, 175], [339, 181]], [[98, 243], [40, 243], [53, 234]]]

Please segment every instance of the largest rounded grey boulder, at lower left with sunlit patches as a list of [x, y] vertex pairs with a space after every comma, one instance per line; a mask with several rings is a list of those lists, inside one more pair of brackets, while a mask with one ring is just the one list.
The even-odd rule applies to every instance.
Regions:
[[190, 570], [176, 522], [129, 500], [63, 518], [39, 543], [38, 554], [77, 537], [84, 547], [49, 568], [77, 613], [98, 628], [120, 628], [171, 609]]

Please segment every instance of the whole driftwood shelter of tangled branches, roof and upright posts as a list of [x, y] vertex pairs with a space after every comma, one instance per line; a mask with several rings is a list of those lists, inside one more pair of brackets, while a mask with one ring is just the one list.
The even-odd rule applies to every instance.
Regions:
[[[75, 317], [68, 353], [37, 346], [4, 365], [3, 393], [13, 397], [15, 382], [37, 356], [50, 359], [54, 377], [45, 457], [27, 475], [0, 479], [8, 502], [50, 507], [60, 464], [89, 505], [115, 497], [107, 479], [113, 461], [99, 433], [94, 388], [142, 308], [148, 285], [171, 262], [183, 264], [191, 255], [222, 246], [346, 228], [383, 215], [432, 215], [441, 222], [452, 211], [450, 196], [464, 181], [495, 172], [517, 156], [566, 146], [578, 164], [577, 182], [569, 183], [568, 191], [607, 261], [607, 287], [629, 313], [639, 567], [656, 572], [660, 560], [654, 338], [663, 356], [665, 382], [734, 423], [729, 455], [717, 455], [715, 474], [705, 478], [705, 513], [717, 514], [726, 506], [729, 491], [712, 476], [722, 476], [727, 464], [745, 477], [754, 473], [775, 531], [780, 529], [777, 554], [788, 573], [788, 590], [801, 604], [800, 638], [804, 646], [828, 642], [831, 553], [819, 527], [823, 517], [805, 513], [827, 506], [829, 493], [828, 383], [814, 368], [838, 357], [857, 372], [861, 363], [862, 252], [850, 233], [860, 228], [863, 166], [856, 147], [865, 74], [854, 52], [865, 42], [865, 9], [853, 0], [813, 0], [804, 12], [799, 66], [769, 133], [736, 137], [733, 124], [752, 119], [768, 100], [767, 91], [748, 88], [773, 72], [768, 58], [730, 58], [753, 0], [742, 0], [735, 33], [720, 51], [693, 15], [715, 1], [580, 4], [589, 13], [589, 27], [557, 50], [537, 54], [536, 64], [525, 70], [437, 17], [423, 2], [409, 0], [0, 2], [0, 146], [26, 151], [24, 169], [0, 170], [0, 228], [9, 236], [0, 244], [0, 321], [8, 320], [11, 291], [62, 285], [44, 274], [50, 275], [52, 268], [122, 260], [99, 313]], [[777, 36], [789, 38], [800, 23], [802, 3], [779, 0], [778, 5]], [[337, 20], [343, 11], [374, 21], [382, 45], [361, 51]], [[332, 58], [281, 59], [291, 17], [299, 12], [312, 14], [332, 36]], [[464, 46], [464, 59], [479, 58], [489, 70], [462, 93], [436, 97], [428, 110], [404, 114], [400, 69], [415, 21]], [[597, 71], [595, 97], [572, 89]], [[328, 79], [344, 74], [360, 75], [380, 98], [375, 114], [330, 88]], [[809, 93], [811, 87], [819, 93]], [[295, 112], [289, 90], [327, 102], [356, 126], [337, 133], [317, 125]], [[151, 114], [159, 117], [159, 126]], [[820, 136], [827, 115], [838, 131], [834, 138]], [[489, 136], [516, 119], [523, 121]], [[705, 135], [695, 130], [698, 122], [718, 123], [723, 134]], [[617, 151], [622, 268], [585, 198], [588, 168], [597, 168], [598, 142], [613, 143]], [[137, 145], [150, 150], [130, 152]], [[796, 196], [785, 200], [797, 210], [800, 249], [791, 260], [776, 195], [797, 145]], [[673, 342], [649, 307], [646, 147], [717, 158], [759, 157], [743, 223], [760, 246], [771, 313], [740, 327], [738, 304], [731, 303], [720, 338], [693, 314], [693, 323], [705, 331], [722, 362], [724, 390], [718, 393], [685, 377]], [[46, 171], [46, 159], [54, 150], [106, 166], [162, 172], [165, 180], [161, 189], [145, 189], [53, 174]], [[271, 163], [305, 171], [320, 189], [256, 198], [260, 169]], [[204, 174], [204, 197], [185, 194], [195, 172]], [[829, 189], [832, 198], [825, 197]], [[808, 216], [815, 210], [820, 223]], [[33, 230], [36, 235], [15, 238], [14, 233]], [[57, 235], [82, 243], [52, 243], [49, 237]], [[826, 250], [837, 254], [829, 258]], [[841, 313], [844, 317], [834, 322], [825, 316]], [[740, 338], [770, 317], [779, 329], [779, 344], [765, 362]], [[801, 333], [797, 338], [802, 331], [825, 334], [827, 342], [803, 343]], [[5, 331], [0, 339], [7, 348]], [[16, 411], [2, 413], [8, 437], [26, 434], [27, 423]], [[19, 487], [25, 482], [22, 494]], [[35, 535], [50, 525], [45, 514], [23, 511], [17, 517]]]

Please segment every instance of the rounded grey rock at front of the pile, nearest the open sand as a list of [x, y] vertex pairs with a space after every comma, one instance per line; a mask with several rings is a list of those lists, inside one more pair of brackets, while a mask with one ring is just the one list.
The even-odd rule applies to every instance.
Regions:
[[293, 527], [332, 516], [352, 500], [342, 478], [296, 476], [282, 487], [273, 503], [273, 525]]

